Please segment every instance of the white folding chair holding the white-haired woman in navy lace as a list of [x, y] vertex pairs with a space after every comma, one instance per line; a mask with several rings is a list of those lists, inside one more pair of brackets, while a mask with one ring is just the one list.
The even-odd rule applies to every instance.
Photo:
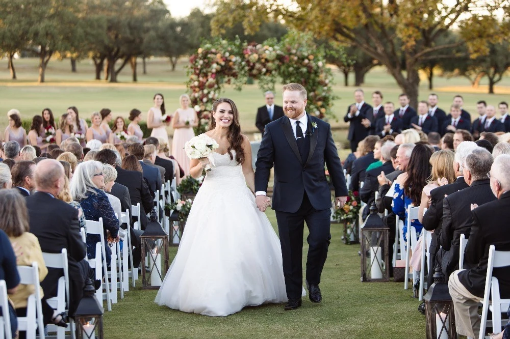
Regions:
[[[86, 224], [87, 224], [87, 234], [98, 235], [99, 239], [100, 239], [100, 242], [98, 241], [96, 243], [96, 257], [94, 259], [89, 260], [89, 263], [92, 263], [94, 265], [93, 268], [96, 269], [96, 279], [97, 279], [97, 271], [98, 271], [97, 265], [99, 265], [99, 267], [101, 266], [101, 264], [98, 263], [99, 260], [101, 260], [102, 266], [103, 266], [105, 283], [101, 284], [102, 287], [99, 288], [98, 292], [96, 292], [96, 297], [100, 304], [103, 304], [103, 299], [105, 299], [105, 297], [106, 297], [108, 310], [112, 310], [112, 297], [110, 295], [110, 281], [108, 279], [108, 266], [106, 263], [105, 231], [103, 228], [103, 218], [99, 218], [99, 221], [86, 220]], [[97, 251], [97, 244], [100, 244], [99, 251]], [[99, 259], [99, 260], [97, 260], [97, 259]], [[91, 265], [91, 267], [92, 267], [92, 265]], [[101, 276], [99, 276], [99, 279], [101, 279]], [[106, 293], [103, 293], [103, 288], [106, 290]]]

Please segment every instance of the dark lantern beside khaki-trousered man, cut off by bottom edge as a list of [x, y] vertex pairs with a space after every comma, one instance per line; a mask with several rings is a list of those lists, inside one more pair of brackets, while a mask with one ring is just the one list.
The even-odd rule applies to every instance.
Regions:
[[427, 339], [456, 339], [455, 313], [448, 284], [441, 266], [434, 269], [434, 283], [423, 297], [425, 300]]

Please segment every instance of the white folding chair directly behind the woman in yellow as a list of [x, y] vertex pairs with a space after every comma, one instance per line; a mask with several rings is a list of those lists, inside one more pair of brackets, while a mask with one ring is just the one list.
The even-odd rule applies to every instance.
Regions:
[[36, 330], [39, 329], [39, 338], [44, 339], [39, 266], [36, 262], [32, 266], [18, 266], [18, 273], [20, 284], [34, 285], [34, 293], [27, 300], [27, 316], [18, 317], [18, 329], [27, 332], [27, 339], [35, 339]]

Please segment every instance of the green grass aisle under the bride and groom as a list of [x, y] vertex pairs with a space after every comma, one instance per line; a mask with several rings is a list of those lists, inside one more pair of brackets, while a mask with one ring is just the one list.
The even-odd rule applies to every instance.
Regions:
[[[276, 229], [274, 212], [267, 215]], [[305, 231], [305, 238], [307, 231]], [[107, 338], [422, 338], [425, 318], [403, 283], [361, 283], [359, 245], [340, 240], [331, 225], [331, 244], [322, 273], [323, 301], [308, 297], [296, 311], [283, 304], [247, 307], [228, 317], [187, 314], [154, 303], [157, 291], [136, 290], [105, 313]], [[307, 247], [307, 244], [305, 244]], [[304, 253], [306, 253], [305, 248]], [[175, 255], [172, 248], [170, 260]], [[303, 263], [304, 267], [304, 263]]]

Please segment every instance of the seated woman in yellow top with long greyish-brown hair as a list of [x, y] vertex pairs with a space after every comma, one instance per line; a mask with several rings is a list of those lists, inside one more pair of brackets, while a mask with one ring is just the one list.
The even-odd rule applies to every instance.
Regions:
[[[11, 243], [21, 246], [22, 252], [17, 257], [17, 264], [20, 266], [32, 266], [36, 262], [39, 267], [39, 280], [43, 281], [48, 274], [48, 269], [42, 258], [41, 246], [37, 237], [30, 233], [27, 205], [25, 200], [16, 190], [5, 189], [0, 191], [0, 229], [2, 229]], [[16, 293], [10, 299], [14, 303], [18, 317], [27, 315], [27, 302], [34, 293], [34, 285], [19, 285]], [[66, 314], [57, 313], [55, 309], [46, 302], [44, 292], [41, 288], [42, 315], [45, 324], [55, 324], [67, 327], [65, 323]]]

